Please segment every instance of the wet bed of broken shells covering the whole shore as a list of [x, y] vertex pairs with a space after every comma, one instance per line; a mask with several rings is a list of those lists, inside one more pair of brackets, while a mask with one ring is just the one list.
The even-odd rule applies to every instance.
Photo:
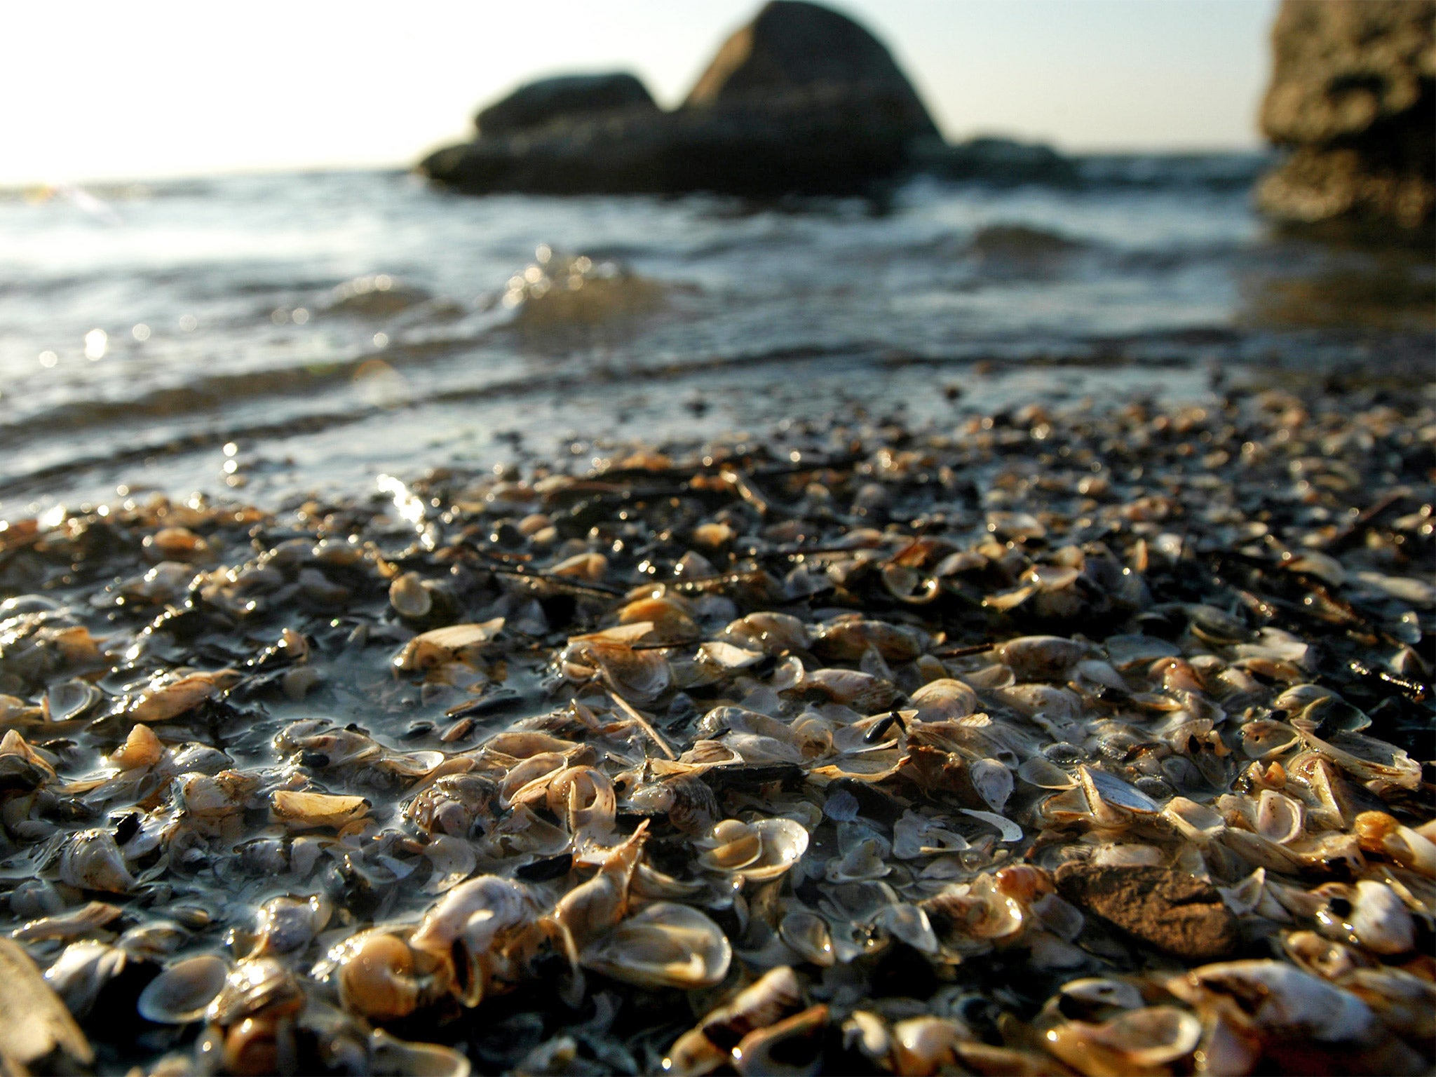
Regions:
[[0, 1048], [1426, 1073], [1433, 448], [1231, 391], [11, 520]]

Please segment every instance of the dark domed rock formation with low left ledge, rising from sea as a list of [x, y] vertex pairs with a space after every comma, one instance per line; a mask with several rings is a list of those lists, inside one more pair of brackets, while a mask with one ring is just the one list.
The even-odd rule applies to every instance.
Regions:
[[675, 112], [546, 106], [520, 109], [544, 119], [518, 128], [501, 112], [497, 131], [490, 112], [478, 139], [419, 169], [470, 192], [862, 194], [909, 167], [915, 139], [938, 138], [867, 30], [798, 0], [774, 0], [729, 37]]

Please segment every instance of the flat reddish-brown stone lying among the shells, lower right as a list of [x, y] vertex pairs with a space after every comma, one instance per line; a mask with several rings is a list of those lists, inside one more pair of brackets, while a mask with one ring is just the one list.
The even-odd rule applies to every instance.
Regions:
[[1167, 867], [1067, 863], [1057, 890], [1150, 946], [1186, 961], [1218, 961], [1236, 952], [1236, 918], [1211, 883]]

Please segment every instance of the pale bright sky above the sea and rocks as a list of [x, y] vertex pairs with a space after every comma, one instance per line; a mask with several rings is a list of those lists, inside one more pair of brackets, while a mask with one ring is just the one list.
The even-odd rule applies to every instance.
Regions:
[[[518, 82], [676, 105], [757, 0], [69, 0], [6, 11], [0, 184], [406, 165]], [[1258, 145], [1275, 0], [839, 0], [949, 138]]]

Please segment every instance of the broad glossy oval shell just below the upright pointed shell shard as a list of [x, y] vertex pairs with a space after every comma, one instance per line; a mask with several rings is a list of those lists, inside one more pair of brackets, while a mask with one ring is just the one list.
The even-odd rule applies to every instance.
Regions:
[[625, 984], [692, 991], [728, 975], [732, 946], [698, 909], [655, 902], [586, 946], [579, 961]]

